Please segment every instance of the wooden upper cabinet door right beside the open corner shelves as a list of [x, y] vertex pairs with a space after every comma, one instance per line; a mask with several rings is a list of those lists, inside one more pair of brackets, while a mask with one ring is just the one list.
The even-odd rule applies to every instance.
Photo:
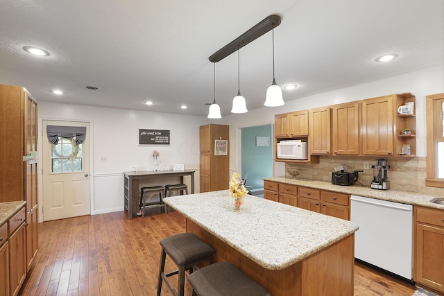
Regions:
[[363, 101], [362, 154], [393, 155], [393, 96]]

